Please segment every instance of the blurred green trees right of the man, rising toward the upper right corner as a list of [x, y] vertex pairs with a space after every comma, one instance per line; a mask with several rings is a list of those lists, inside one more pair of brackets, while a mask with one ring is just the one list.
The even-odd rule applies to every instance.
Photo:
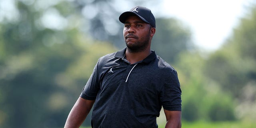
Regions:
[[192, 50], [176, 58], [184, 120], [256, 119], [256, 4], [248, 11], [216, 52]]

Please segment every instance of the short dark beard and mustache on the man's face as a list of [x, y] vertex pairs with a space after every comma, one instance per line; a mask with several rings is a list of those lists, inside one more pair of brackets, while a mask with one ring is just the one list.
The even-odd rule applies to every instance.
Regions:
[[[133, 35], [133, 34], [129, 34], [128, 36], [134, 36], [134, 38], [138, 39], [138, 37]], [[142, 51], [144, 51], [148, 47], [148, 45], [149, 45], [149, 38], [150, 38], [150, 33], [148, 33], [148, 35], [142, 37], [137, 42], [128, 44], [125, 41], [125, 43], [126, 43], [127, 48], [129, 48], [130, 52], [142, 52]]]

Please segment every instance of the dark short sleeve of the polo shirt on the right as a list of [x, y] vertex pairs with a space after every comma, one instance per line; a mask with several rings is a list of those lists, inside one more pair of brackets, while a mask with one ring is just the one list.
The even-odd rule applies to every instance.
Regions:
[[181, 111], [181, 89], [176, 70], [166, 75], [164, 86], [162, 86], [160, 100], [166, 110]]

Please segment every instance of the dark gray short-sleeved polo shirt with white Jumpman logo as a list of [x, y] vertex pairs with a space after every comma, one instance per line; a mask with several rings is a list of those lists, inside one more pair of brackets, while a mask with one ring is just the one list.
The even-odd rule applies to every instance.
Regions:
[[157, 128], [163, 106], [181, 111], [177, 72], [155, 52], [130, 64], [126, 48], [99, 58], [80, 97], [95, 100], [93, 128]]

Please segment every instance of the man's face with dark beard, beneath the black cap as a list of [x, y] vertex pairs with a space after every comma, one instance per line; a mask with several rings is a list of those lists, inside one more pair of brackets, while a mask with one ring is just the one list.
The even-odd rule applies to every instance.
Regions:
[[124, 22], [124, 41], [133, 52], [145, 50], [150, 40], [150, 24], [141, 20], [138, 16], [130, 16]]

